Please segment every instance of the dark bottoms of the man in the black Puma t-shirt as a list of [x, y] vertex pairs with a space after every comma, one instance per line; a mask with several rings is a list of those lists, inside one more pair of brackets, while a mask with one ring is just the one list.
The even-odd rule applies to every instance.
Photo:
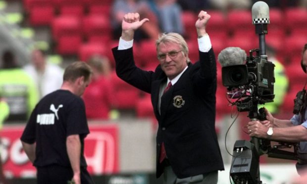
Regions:
[[[81, 184], [94, 184], [86, 168], [80, 168]], [[70, 167], [59, 165], [50, 165], [46, 167], [37, 167], [37, 184], [67, 184], [73, 177], [73, 171]]]

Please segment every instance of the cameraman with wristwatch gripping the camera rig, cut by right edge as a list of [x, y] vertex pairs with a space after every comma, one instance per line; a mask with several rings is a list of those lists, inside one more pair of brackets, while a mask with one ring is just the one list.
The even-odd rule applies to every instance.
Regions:
[[[307, 67], [307, 44], [302, 52], [302, 68], [306, 73]], [[305, 96], [306, 99], [306, 96]], [[248, 132], [250, 137], [267, 138], [271, 140], [300, 142], [298, 150], [298, 162], [296, 168], [301, 175], [304, 169], [307, 169], [307, 100], [298, 115], [294, 115], [290, 120], [280, 120], [274, 118], [272, 114], [265, 109], [265, 121], [250, 121], [248, 123]]]

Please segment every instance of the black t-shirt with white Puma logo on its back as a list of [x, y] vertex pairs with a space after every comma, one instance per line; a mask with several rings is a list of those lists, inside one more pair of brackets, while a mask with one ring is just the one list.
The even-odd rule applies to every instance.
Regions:
[[89, 134], [85, 106], [81, 97], [64, 90], [46, 95], [36, 105], [21, 140], [36, 142], [34, 166], [51, 164], [70, 167], [66, 150], [66, 138], [80, 135], [80, 166], [87, 166], [84, 158], [84, 138]]

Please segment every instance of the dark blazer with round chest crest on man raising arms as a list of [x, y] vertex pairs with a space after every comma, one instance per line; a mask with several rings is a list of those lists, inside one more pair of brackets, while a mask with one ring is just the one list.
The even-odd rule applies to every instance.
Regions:
[[[133, 48], [113, 48], [116, 73], [136, 88], [151, 93], [153, 110], [158, 120], [156, 136], [156, 177], [163, 173], [158, 162], [161, 142], [178, 178], [224, 170], [215, 133], [216, 62], [212, 48], [200, 51], [200, 61], [190, 63], [177, 83], [161, 97], [161, 84], [167, 77], [158, 65], [155, 71], [144, 71], [135, 65]], [[157, 63], [158, 64], [158, 63]]]

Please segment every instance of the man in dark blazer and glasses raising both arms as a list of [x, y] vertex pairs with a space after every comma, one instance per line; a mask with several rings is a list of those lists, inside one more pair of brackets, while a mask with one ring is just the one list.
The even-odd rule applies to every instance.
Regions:
[[151, 93], [158, 120], [156, 177], [164, 184], [216, 184], [224, 170], [215, 133], [216, 62], [205, 31], [210, 15], [201, 11], [196, 21], [200, 61], [192, 64], [189, 49], [177, 33], [156, 41], [159, 65], [144, 71], [133, 58], [134, 32], [149, 19], [128, 13], [122, 21], [119, 46], [112, 49], [119, 78]]

